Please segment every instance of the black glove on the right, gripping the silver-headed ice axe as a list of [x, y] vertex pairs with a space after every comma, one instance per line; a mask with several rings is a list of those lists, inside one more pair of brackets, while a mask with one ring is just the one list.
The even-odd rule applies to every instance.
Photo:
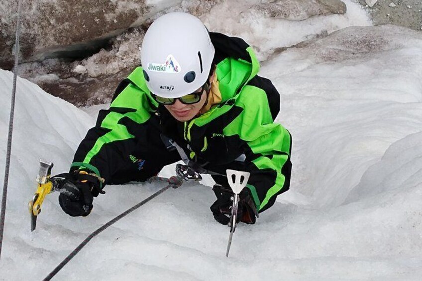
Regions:
[[[212, 204], [210, 210], [216, 221], [227, 225], [230, 222], [231, 208], [233, 206], [231, 198], [234, 193], [231, 188], [218, 184], [214, 185], [212, 190], [214, 190], [217, 200]], [[236, 217], [237, 222], [241, 221], [247, 224], [254, 224], [258, 217], [258, 211], [248, 188], [243, 189], [239, 194], [239, 206]]]

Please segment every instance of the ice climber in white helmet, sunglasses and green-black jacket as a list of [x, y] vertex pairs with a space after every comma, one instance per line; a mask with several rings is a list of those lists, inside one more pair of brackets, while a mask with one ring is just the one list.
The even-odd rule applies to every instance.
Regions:
[[280, 95], [257, 75], [253, 49], [175, 12], [149, 27], [141, 63], [79, 145], [61, 184], [62, 209], [87, 216], [106, 184], [145, 181], [183, 159], [217, 183], [210, 209], [222, 224], [232, 204], [226, 169], [250, 172], [238, 217], [255, 223], [289, 189], [292, 164], [290, 133], [274, 123]]

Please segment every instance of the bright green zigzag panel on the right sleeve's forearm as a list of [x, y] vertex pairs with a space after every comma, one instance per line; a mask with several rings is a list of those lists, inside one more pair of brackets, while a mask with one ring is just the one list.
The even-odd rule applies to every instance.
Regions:
[[287, 162], [288, 157], [289, 156], [287, 156], [287, 155], [279, 154], [279, 155], [274, 155], [273, 159], [269, 159], [268, 157], [261, 156], [261, 157], [258, 157], [257, 159], [252, 161], [258, 169], [271, 168], [271, 169], [277, 171], [277, 177], [276, 177], [275, 185], [272, 186], [267, 191], [267, 194], [266, 194], [264, 200], [262, 200], [262, 203], [259, 207], [260, 210], [263, 207], [265, 207], [266, 204], [268, 204], [268, 201], [270, 200], [271, 197], [273, 197], [275, 194], [277, 194], [277, 192], [279, 192], [283, 188], [285, 177], [281, 173], [281, 168]]

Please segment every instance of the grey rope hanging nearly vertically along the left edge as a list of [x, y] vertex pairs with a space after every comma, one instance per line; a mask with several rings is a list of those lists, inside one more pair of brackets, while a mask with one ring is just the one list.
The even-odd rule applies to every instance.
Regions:
[[7, 201], [7, 186], [9, 182], [9, 170], [10, 170], [10, 156], [12, 149], [12, 133], [13, 133], [13, 119], [14, 119], [14, 102], [16, 98], [16, 81], [17, 81], [17, 66], [19, 63], [19, 36], [20, 36], [20, 10], [22, 7], [21, 0], [17, 6], [17, 22], [16, 22], [16, 42], [15, 42], [15, 54], [14, 54], [14, 75], [13, 75], [13, 90], [10, 105], [10, 120], [9, 120], [9, 135], [7, 139], [7, 153], [6, 153], [6, 167], [4, 172], [4, 186], [3, 186], [3, 198], [1, 201], [1, 215], [0, 215], [0, 260], [1, 260], [1, 248], [3, 246], [3, 233], [4, 233], [4, 219], [6, 216], [6, 201]]

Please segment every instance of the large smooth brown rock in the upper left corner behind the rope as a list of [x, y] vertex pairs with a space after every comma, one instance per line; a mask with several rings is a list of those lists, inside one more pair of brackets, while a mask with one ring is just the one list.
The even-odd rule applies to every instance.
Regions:
[[[140, 22], [150, 11], [144, 0], [22, 1], [22, 62], [87, 57], [107, 47], [109, 38]], [[0, 6], [0, 68], [10, 69], [17, 1], [2, 0]]]

